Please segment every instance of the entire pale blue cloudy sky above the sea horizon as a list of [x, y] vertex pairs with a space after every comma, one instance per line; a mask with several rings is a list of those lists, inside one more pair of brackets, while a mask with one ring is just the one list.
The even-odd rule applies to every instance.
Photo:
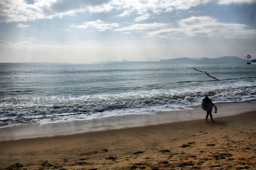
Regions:
[[256, 0], [1, 0], [0, 62], [256, 59]]

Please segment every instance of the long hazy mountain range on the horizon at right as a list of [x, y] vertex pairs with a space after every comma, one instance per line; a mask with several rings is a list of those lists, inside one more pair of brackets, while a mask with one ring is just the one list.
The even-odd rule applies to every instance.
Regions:
[[219, 61], [219, 62], [244, 62], [245, 59], [240, 59], [239, 57], [235, 56], [224, 56], [224, 57], [219, 57], [215, 59], [209, 59], [206, 57], [203, 58], [196, 58], [196, 59], [191, 59], [187, 57], [182, 57], [182, 58], [176, 58], [176, 59], [161, 59], [160, 61]]

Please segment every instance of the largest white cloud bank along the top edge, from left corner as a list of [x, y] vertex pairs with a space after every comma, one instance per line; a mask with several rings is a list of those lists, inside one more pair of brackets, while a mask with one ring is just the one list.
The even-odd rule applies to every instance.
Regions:
[[109, 12], [123, 10], [119, 15], [127, 16], [137, 11], [136, 21], [142, 21], [153, 14], [169, 12], [173, 9], [189, 9], [206, 4], [211, 0], [35, 0], [29, 4], [25, 0], [1, 0], [0, 22], [21, 22], [42, 18], [75, 15], [78, 12]]

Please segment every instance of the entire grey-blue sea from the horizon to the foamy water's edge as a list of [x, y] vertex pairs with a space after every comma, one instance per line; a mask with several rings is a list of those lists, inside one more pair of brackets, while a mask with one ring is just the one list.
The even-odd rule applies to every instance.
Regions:
[[0, 63], [0, 131], [84, 120], [92, 127], [100, 119], [125, 122], [200, 106], [205, 96], [214, 103], [256, 99], [256, 64]]

